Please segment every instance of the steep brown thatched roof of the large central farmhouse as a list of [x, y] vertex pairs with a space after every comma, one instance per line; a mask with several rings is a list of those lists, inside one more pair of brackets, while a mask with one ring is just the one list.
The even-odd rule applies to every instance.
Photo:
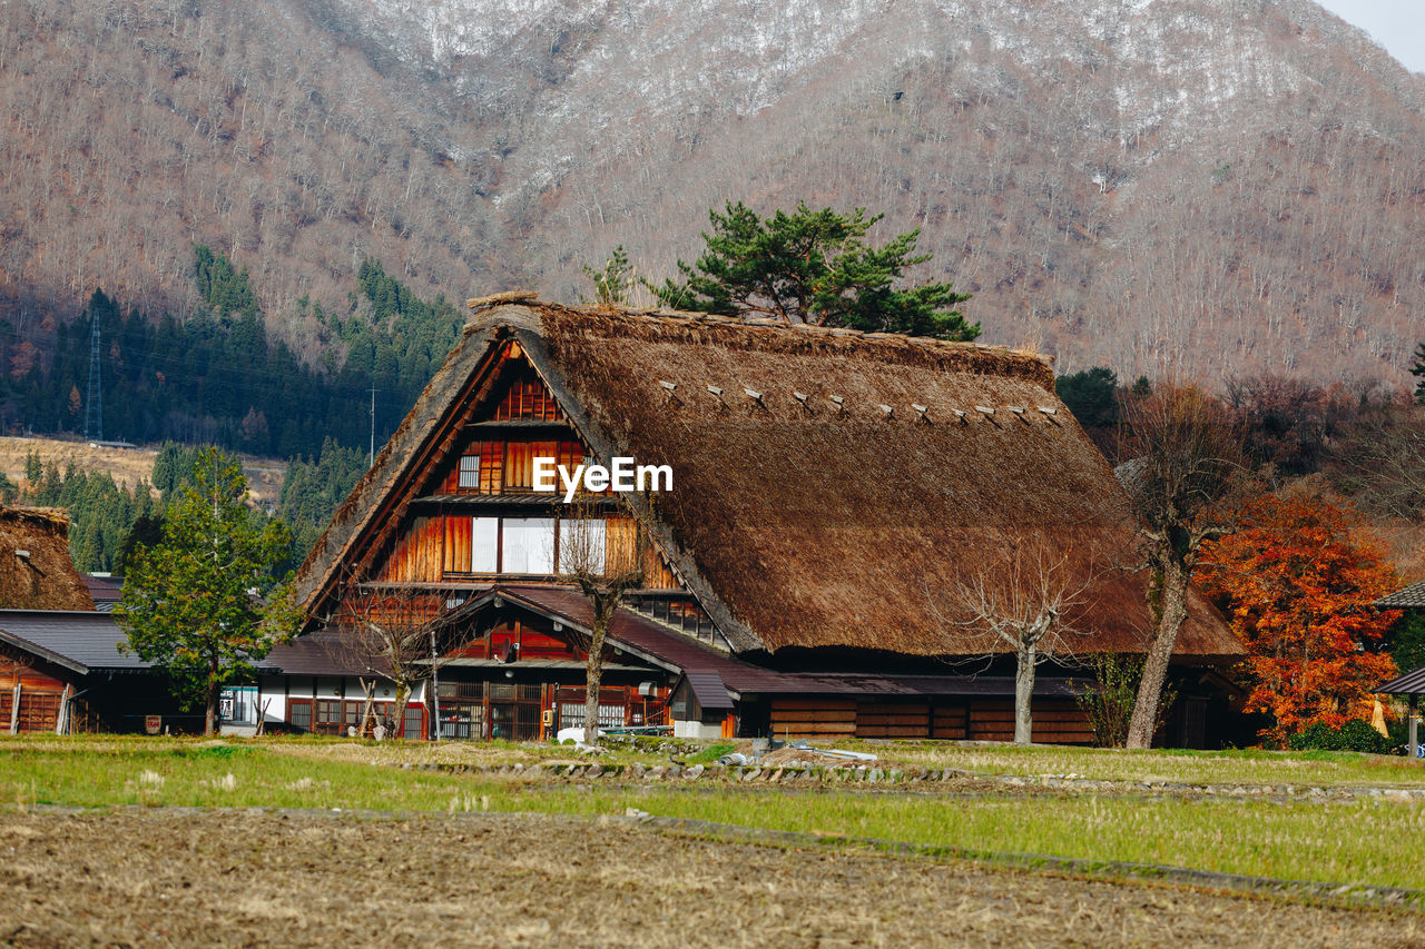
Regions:
[[[1123, 569], [1126, 497], [1040, 358], [523, 301], [497, 301], [467, 326], [304, 564], [309, 603], [389, 517], [390, 492], [503, 341], [520, 345], [598, 457], [673, 466], [674, 490], [651, 510], [627, 497], [738, 650], [980, 651], [949, 621], [950, 591], [1030, 537], [1096, 577], [1080, 608], [1084, 648], [1141, 648], [1149, 616], [1141, 576]], [[1241, 645], [1194, 596], [1178, 651]]]

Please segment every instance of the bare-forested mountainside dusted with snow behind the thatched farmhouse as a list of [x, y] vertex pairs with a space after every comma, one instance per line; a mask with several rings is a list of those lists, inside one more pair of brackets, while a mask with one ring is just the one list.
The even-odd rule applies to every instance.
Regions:
[[11, 0], [0, 101], [11, 362], [97, 286], [185, 319], [198, 244], [319, 365], [368, 258], [573, 299], [727, 199], [922, 228], [1062, 372], [1404, 386], [1425, 338], [1425, 77], [1307, 0]]

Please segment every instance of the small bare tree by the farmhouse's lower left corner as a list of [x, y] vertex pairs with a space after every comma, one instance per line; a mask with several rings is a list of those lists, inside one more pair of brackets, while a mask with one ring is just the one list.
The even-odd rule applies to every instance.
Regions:
[[445, 603], [439, 594], [390, 583], [363, 583], [356, 577], [348, 580], [338, 611], [339, 636], [328, 650], [333, 658], [362, 671], [362, 734], [373, 724], [376, 684], [382, 680], [395, 691], [392, 717], [385, 722], [388, 734], [403, 734], [406, 704], [416, 687], [435, 675], [445, 628]]

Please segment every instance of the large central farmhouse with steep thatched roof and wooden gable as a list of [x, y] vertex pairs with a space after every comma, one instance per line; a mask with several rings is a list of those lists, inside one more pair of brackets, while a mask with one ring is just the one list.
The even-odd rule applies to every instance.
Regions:
[[[312, 630], [341, 626], [353, 579], [445, 611], [460, 627], [447, 670], [460, 671], [443, 671], [442, 688], [457, 704], [446, 680], [469, 678], [472, 734], [490, 734], [500, 678], [524, 677], [543, 712], [581, 681], [560, 630], [587, 608], [554, 554], [520, 546], [560, 530], [563, 499], [532, 490], [542, 455], [671, 467], [671, 490], [596, 500], [610, 563], [648, 566], [616, 628], [626, 685], [644, 700], [671, 690], [674, 718], [705, 724], [708, 707], [730, 707], [721, 728], [742, 734], [1003, 737], [1006, 668], [956, 664], [983, 654], [983, 637], [948, 618], [946, 597], [1026, 539], [1084, 579], [1079, 653], [1141, 650], [1126, 497], [1042, 358], [771, 321], [473, 304], [298, 574]], [[509, 661], [500, 643], [514, 640]], [[450, 665], [456, 653], [463, 665]], [[522, 665], [536, 653], [551, 663], [540, 675]], [[1197, 670], [1184, 695], [1208, 701], [1210, 670], [1241, 645], [1194, 596], [1178, 654]], [[1036, 728], [1083, 741], [1060, 673], [1042, 678]]]

